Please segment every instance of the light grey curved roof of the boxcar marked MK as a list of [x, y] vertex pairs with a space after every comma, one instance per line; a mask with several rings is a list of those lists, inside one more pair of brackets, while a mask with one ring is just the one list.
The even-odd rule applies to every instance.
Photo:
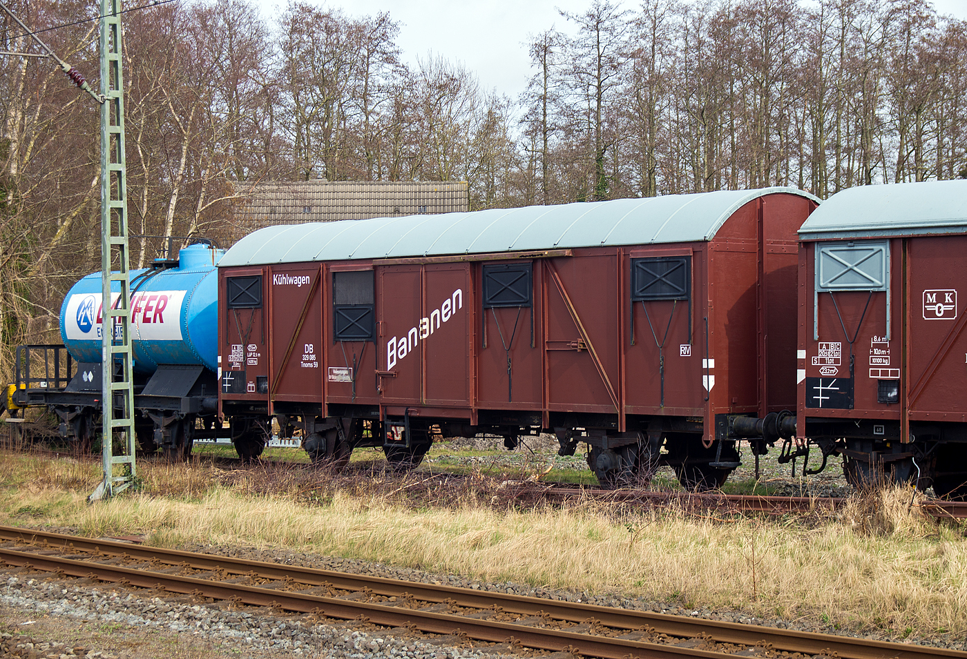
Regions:
[[967, 232], [967, 180], [860, 186], [836, 192], [799, 230], [804, 240]]

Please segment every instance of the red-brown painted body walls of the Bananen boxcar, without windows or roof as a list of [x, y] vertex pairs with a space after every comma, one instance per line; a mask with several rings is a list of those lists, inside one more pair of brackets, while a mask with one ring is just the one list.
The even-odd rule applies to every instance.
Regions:
[[[263, 328], [263, 310], [221, 302], [222, 356], [246, 343], [235, 315], [252, 316], [246, 346], [256, 346], [258, 363], [243, 365], [253, 384], [256, 371], [269, 378], [268, 393], [222, 392], [221, 400], [472, 424], [482, 413], [533, 413], [544, 428], [555, 415], [594, 413], [619, 432], [629, 419], [640, 429], [643, 419], [671, 416], [704, 421], [713, 439], [715, 415], [795, 405], [796, 230], [814, 208], [802, 196], [769, 194], [738, 209], [709, 242], [534, 252], [529, 307], [482, 307], [484, 263], [520, 262], [513, 253], [223, 268], [222, 301], [225, 277], [263, 274], [271, 321]], [[689, 300], [632, 303], [632, 260], [662, 256], [690, 257]], [[375, 340], [335, 341], [333, 272], [367, 269]], [[308, 282], [274, 286], [275, 274]], [[305, 366], [307, 355], [319, 366]]]

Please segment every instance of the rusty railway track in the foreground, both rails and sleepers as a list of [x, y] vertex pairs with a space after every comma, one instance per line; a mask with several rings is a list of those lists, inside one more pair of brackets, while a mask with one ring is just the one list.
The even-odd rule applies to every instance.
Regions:
[[[0, 527], [8, 566], [577, 656], [926, 659], [967, 652], [613, 609]], [[799, 653], [798, 655], [796, 653]]]

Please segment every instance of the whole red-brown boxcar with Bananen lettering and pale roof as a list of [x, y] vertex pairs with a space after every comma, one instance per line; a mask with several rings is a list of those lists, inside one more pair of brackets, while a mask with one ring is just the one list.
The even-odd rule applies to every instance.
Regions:
[[717, 486], [736, 437], [795, 409], [817, 204], [774, 187], [259, 230], [220, 262], [220, 413], [244, 455], [273, 416], [315, 459], [382, 446], [400, 467], [439, 436], [554, 432], [604, 483], [662, 461]]

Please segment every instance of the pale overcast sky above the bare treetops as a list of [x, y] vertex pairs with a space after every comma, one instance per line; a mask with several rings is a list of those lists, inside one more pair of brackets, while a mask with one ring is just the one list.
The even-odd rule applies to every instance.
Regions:
[[[273, 19], [285, 0], [258, 0], [266, 18]], [[558, 8], [579, 14], [591, 0], [332, 0], [318, 6], [341, 7], [352, 16], [388, 12], [400, 23], [403, 60], [409, 64], [432, 51], [462, 62], [477, 74], [485, 89], [496, 89], [512, 99], [524, 91], [530, 78], [527, 56], [529, 36], [551, 27], [571, 32], [573, 24]], [[631, 9], [636, 2], [622, 3]], [[941, 14], [967, 18], [967, 0], [934, 0]]]

